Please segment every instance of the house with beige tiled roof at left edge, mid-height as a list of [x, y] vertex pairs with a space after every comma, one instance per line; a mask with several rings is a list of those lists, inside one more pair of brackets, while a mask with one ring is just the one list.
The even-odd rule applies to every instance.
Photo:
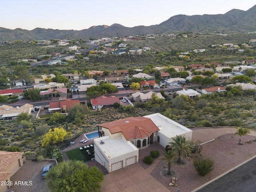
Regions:
[[33, 108], [32, 104], [24, 104], [20, 107], [2, 105], [0, 106], [0, 119], [2, 120], [14, 120], [21, 113], [31, 113]]

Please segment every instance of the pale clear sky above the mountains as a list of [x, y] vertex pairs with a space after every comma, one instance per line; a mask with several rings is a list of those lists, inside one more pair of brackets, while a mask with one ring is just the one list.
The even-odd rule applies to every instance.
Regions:
[[2, 0], [0, 27], [82, 30], [91, 26], [160, 24], [170, 17], [248, 10], [254, 0]]

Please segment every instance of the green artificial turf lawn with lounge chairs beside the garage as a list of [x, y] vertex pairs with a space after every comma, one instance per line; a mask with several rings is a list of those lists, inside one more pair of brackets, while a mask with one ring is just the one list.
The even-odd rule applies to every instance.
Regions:
[[[91, 152], [91, 155], [88, 155], [86, 150], [89, 150]], [[90, 148], [86, 148], [86, 149], [82, 149], [80, 150], [79, 148], [67, 151], [66, 154], [68, 156], [68, 158], [70, 160], [80, 160], [80, 161], [90, 161], [91, 158], [94, 158], [94, 156], [92, 156], [92, 152], [94, 151], [93, 147]]]

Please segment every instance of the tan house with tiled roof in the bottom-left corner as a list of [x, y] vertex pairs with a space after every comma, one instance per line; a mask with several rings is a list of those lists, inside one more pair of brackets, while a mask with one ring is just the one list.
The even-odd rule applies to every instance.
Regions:
[[[6, 192], [11, 188], [8, 185], [11, 176], [26, 162], [26, 157], [22, 157], [23, 153], [0, 151], [0, 192]], [[4, 184], [4, 182], [7, 182], [7, 184]]]

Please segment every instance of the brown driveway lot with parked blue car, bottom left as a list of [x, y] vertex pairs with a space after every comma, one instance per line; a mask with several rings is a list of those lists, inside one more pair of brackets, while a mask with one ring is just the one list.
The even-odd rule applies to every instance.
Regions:
[[9, 191], [14, 192], [48, 192], [47, 180], [42, 179], [42, 168], [53, 162], [35, 162], [27, 159], [26, 163], [12, 176], [13, 183], [22, 181], [23, 185], [14, 185]]

